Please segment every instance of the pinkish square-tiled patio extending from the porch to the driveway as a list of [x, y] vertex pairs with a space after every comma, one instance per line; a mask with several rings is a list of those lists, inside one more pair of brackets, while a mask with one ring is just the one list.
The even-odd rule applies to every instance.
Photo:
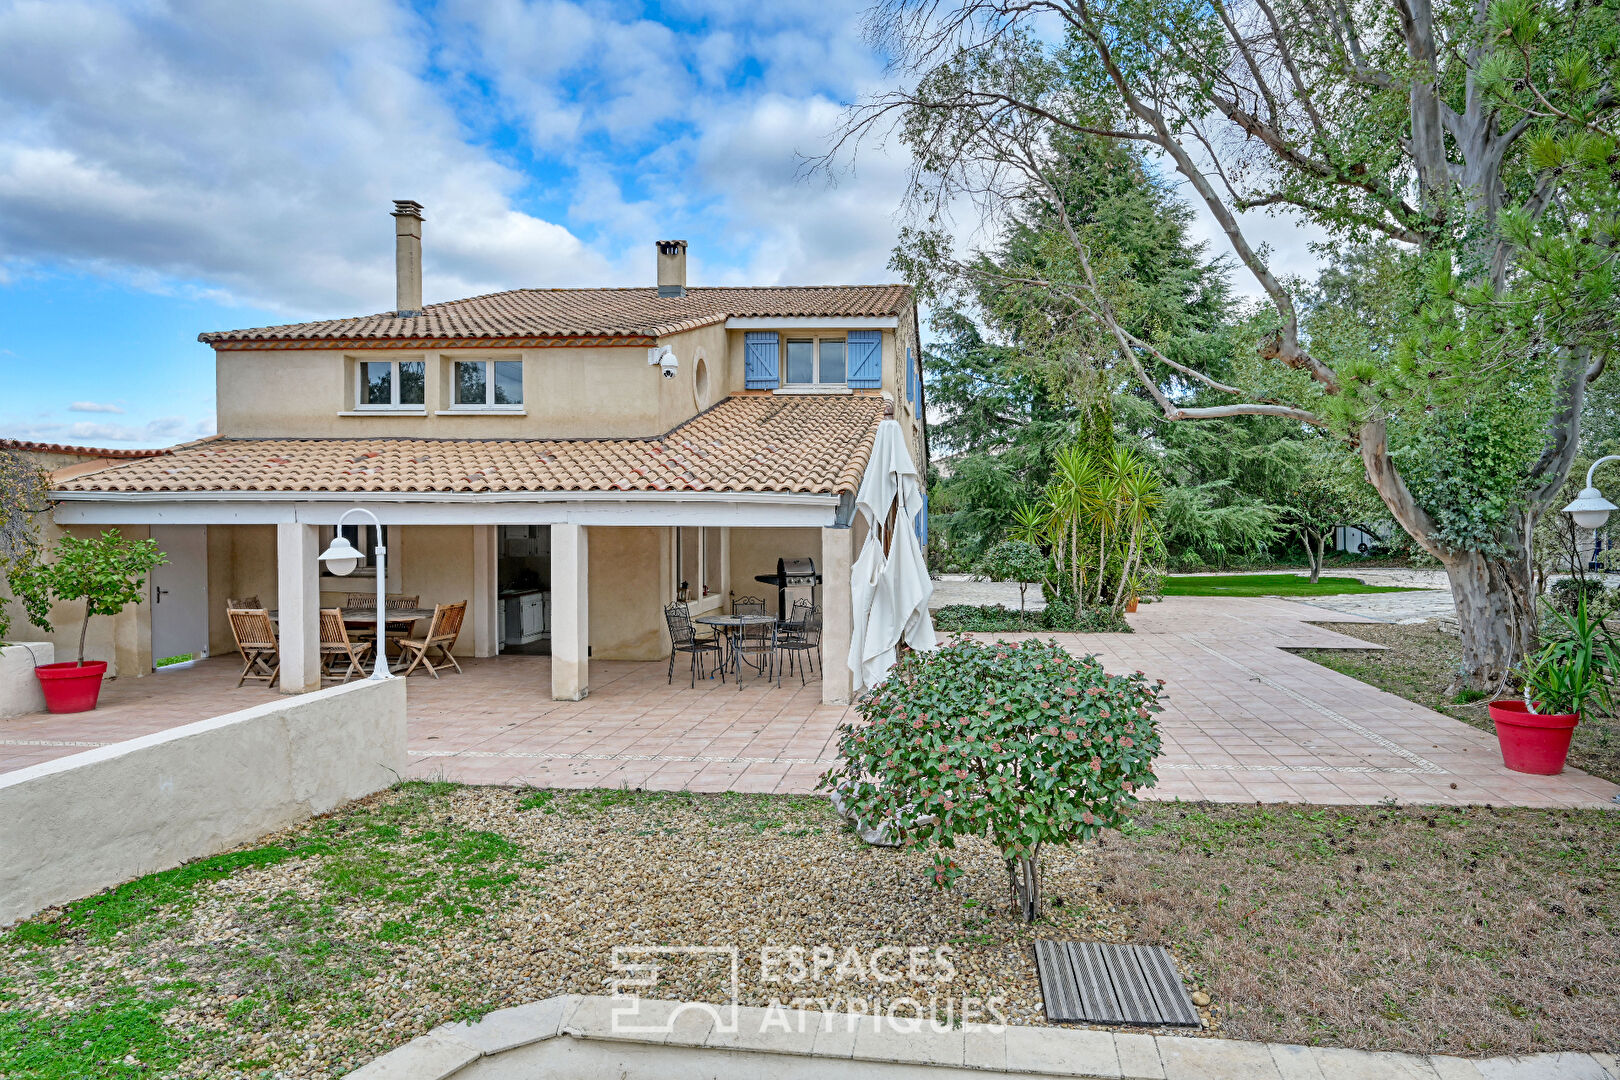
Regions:
[[[1367, 648], [1275, 599], [1174, 597], [1132, 615], [1134, 635], [1058, 635], [1110, 669], [1168, 680], [1155, 798], [1215, 801], [1614, 806], [1620, 787], [1584, 772], [1502, 767], [1482, 730], [1374, 690], [1285, 648]], [[1333, 615], [1335, 620], [1353, 620]], [[591, 696], [548, 698], [549, 661], [463, 662], [410, 682], [415, 776], [471, 784], [808, 792], [831, 764], [847, 709], [815, 680], [688, 690], [663, 664], [596, 661]], [[233, 690], [235, 657], [107, 685], [81, 716], [0, 721], [0, 771], [269, 701]]]

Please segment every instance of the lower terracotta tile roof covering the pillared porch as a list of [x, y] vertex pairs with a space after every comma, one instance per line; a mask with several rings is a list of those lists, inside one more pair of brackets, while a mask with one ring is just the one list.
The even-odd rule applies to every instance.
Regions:
[[883, 419], [863, 395], [742, 393], [656, 439], [214, 439], [62, 492], [855, 491]]

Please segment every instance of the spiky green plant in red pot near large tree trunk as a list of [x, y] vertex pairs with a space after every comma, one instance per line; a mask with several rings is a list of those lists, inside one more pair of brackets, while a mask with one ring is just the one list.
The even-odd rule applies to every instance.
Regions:
[[1589, 617], [1584, 594], [1573, 614], [1550, 606], [1549, 614], [1562, 623], [1562, 633], [1524, 661], [1523, 699], [1490, 703], [1502, 764], [1536, 776], [1563, 772], [1581, 712], [1610, 704], [1609, 670], [1615, 659], [1614, 641], [1602, 622]]

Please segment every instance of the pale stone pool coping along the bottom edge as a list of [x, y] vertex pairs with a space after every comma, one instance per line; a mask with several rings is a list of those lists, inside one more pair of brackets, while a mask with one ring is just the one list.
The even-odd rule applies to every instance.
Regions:
[[632, 997], [548, 997], [446, 1023], [347, 1080], [1614, 1080], [1614, 1054], [1414, 1054]]

